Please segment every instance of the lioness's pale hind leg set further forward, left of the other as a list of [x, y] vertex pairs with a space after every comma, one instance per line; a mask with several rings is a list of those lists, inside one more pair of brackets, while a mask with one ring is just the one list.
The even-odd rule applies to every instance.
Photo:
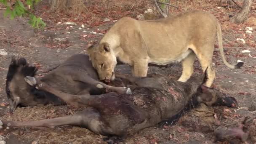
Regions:
[[189, 53], [189, 55], [181, 61], [182, 63], [182, 75], [179, 77], [180, 82], [187, 82], [187, 80], [191, 77], [191, 75], [194, 72], [194, 61], [195, 61], [196, 55], [192, 51]]

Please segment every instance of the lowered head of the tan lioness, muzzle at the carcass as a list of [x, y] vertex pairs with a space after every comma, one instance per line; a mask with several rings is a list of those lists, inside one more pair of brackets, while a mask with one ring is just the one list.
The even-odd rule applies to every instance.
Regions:
[[114, 69], [117, 64], [117, 59], [115, 53], [109, 48], [109, 44], [101, 43], [95, 47], [91, 45], [87, 51], [93, 67], [98, 72], [99, 79], [106, 82], [114, 80]]

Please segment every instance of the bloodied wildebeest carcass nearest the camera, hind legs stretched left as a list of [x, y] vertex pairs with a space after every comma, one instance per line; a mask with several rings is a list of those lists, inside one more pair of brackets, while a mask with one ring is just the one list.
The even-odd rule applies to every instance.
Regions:
[[158, 74], [150, 77], [122, 77], [133, 93], [104, 93], [97, 96], [90, 94], [72, 95], [50, 85], [26, 77], [27, 82], [38, 90], [48, 91], [63, 101], [74, 105], [86, 105], [88, 108], [75, 115], [38, 121], [6, 121], [3, 126], [45, 126], [77, 125], [88, 128], [104, 136], [129, 136], [137, 131], [156, 125], [165, 120], [179, 118], [184, 112], [197, 107], [200, 103], [208, 106], [230, 106], [236, 104], [232, 97], [222, 97], [214, 88], [203, 83], [191, 85], [178, 82]]

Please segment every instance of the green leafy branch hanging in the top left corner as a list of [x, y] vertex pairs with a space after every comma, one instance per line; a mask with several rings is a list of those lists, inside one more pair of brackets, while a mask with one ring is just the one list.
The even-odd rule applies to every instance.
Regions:
[[[15, 1], [15, 3], [12, 3]], [[28, 9], [33, 8], [33, 5], [37, 4], [40, 0], [23, 0], [26, 1], [28, 8], [20, 0], [10, 0], [10, 5], [8, 5], [8, 0], [0, 0], [6, 6], [4, 17], [10, 15], [10, 19], [13, 20], [17, 16], [29, 17], [28, 23], [34, 28], [44, 28], [46, 26], [45, 22], [40, 18], [31, 13]]]

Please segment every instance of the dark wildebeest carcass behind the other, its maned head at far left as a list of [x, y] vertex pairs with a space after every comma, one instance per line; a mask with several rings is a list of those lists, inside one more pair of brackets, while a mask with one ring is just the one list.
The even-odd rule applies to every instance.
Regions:
[[[34, 77], [37, 72], [35, 66], [29, 65], [24, 58], [13, 57], [6, 78], [6, 94], [10, 101], [10, 111], [18, 106], [35, 106], [37, 104], [54, 105], [65, 104], [54, 94], [47, 91], [36, 90], [29, 86], [24, 77]], [[41, 79], [56, 90], [74, 95], [99, 95], [106, 88], [118, 93], [130, 93], [129, 88], [113, 87], [99, 82], [97, 72], [92, 67], [89, 56], [75, 54]]]

